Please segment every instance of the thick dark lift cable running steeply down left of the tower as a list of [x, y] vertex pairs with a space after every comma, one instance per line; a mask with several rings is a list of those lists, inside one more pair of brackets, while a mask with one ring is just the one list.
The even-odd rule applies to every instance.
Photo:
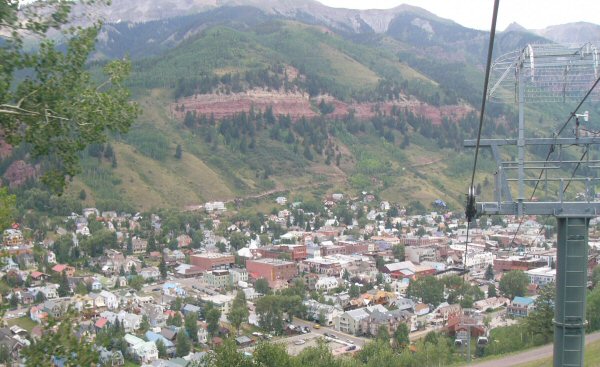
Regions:
[[481, 99], [481, 112], [479, 114], [479, 131], [477, 132], [477, 145], [475, 146], [475, 159], [473, 161], [473, 172], [471, 174], [471, 185], [469, 186], [467, 193], [467, 205], [465, 207], [465, 216], [467, 217], [467, 236], [465, 239], [465, 257], [463, 260], [463, 269], [467, 268], [467, 249], [469, 246], [469, 229], [471, 226], [471, 222], [475, 215], [477, 214], [477, 209], [475, 208], [475, 171], [477, 169], [477, 159], [479, 157], [479, 145], [481, 142], [481, 130], [483, 127], [483, 116], [485, 114], [485, 102], [487, 100], [487, 90], [488, 84], [490, 81], [490, 71], [492, 68], [492, 53], [494, 51], [494, 38], [496, 36], [496, 20], [498, 19], [498, 6], [500, 4], [500, 0], [494, 1], [494, 13], [492, 15], [492, 25], [490, 29], [490, 42], [488, 46], [488, 56], [487, 63], [485, 66], [485, 81], [483, 83], [483, 98]]

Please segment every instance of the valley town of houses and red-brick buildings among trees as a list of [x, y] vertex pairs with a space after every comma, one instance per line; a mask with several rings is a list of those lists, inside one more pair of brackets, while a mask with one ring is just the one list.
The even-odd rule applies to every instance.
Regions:
[[383, 339], [416, 353], [438, 334], [452, 348], [440, 358], [465, 360], [471, 349], [505, 352], [490, 333], [529, 317], [555, 281], [553, 227], [534, 217], [482, 217], [467, 242], [464, 214], [442, 200], [431, 210], [367, 192], [270, 200], [269, 214], [247, 216], [210, 202], [161, 214], [86, 208], [46, 232], [15, 223], [2, 238], [1, 361], [65, 330], [103, 366], [200, 365], [229, 342], [247, 355], [277, 342], [290, 355], [325, 344], [351, 356]]

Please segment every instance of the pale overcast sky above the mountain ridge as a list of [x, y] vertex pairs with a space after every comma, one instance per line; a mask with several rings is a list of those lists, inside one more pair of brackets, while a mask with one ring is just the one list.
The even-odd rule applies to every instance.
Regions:
[[[390, 9], [400, 4], [416, 5], [442, 18], [469, 28], [489, 30], [493, 0], [318, 0], [349, 9]], [[528, 29], [572, 22], [600, 24], [598, 0], [502, 0], [498, 10], [498, 30], [517, 22]]]

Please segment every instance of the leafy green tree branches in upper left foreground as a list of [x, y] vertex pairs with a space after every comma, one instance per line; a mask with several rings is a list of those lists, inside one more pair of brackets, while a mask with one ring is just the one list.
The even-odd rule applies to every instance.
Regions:
[[[104, 80], [97, 83], [86, 63], [100, 24], [69, 26], [74, 4], [69, 0], [38, 1], [19, 9], [20, 3], [0, 2], [0, 138], [13, 146], [27, 144], [34, 158], [46, 158], [42, 180], [61, 192], [65, 176], [79, 172], [79, 152], [104, 142], [108, 132], [126, 132], [137, 116], [123, 86], [130, 64], [107, 63]], [[58, 31], [66, 44], [50, 39], [51, 31]], [[39, 47], [30, 52], [25, 41], [31, 39]]]

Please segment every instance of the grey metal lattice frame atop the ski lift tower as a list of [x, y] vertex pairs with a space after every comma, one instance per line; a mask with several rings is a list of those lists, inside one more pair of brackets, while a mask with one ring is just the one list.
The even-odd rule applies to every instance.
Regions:
[[[494, 102], [518, 102], [521, 87], [525, 103], [579, 101], [598, 76], [600, 47], [592, 43], [530, 44], [494, 62], [487, 97]], [[600, 91], [589, 98], [600, 101]]]

